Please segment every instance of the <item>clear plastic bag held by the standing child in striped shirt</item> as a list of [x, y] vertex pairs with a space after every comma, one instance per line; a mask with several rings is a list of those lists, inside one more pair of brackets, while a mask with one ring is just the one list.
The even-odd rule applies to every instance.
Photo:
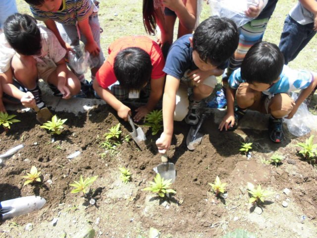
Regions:
[[70, 67], [78, 74], [86, 73], [92, 65], [89, 52], [85, 51], [84, 45], [73, 46], [72, 49], [68, 52]]

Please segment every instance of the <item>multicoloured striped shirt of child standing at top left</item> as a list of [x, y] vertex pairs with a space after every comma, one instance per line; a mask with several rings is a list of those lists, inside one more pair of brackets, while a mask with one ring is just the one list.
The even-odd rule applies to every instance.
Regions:
[[62, 24], [74, 25], [92, 15], [96, 15], [98, 8], [92, 0], [62, 0], [63, 6], [57, 12], [41, 11], [30, 5], [35, 19], [40, 21], [54, 20]]

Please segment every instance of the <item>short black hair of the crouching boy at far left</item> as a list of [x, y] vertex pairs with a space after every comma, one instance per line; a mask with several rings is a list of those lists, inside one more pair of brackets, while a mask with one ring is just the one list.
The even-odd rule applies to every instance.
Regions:
[[19, 54], [37, 55], [41, 52], [41, 33], [36, 20], [27, 14], [10, 15], [3, 24], [5, 39]]

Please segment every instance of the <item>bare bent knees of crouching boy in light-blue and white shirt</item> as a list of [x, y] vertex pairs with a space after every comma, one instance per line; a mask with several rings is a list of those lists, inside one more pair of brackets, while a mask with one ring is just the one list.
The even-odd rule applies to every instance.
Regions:
[[[287, 93], [278, 93], [269, 97], [262, 92], [255, 91], [249, 87], [248, 83], [241, 83], [236, 92], [236, 99], [239, 105], [239, 100], [253, 97], [254, 103], [248, 109], [258, 111], [264, 114], [271, 114], [276, 111], [292, 111], [295, 106], [294, 100]], [[243, 99], [242, 99], [243, 98]]]

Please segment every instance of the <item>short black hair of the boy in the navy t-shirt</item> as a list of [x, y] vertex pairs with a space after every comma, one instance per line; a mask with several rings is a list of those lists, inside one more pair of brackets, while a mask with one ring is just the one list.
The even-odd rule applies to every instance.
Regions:
[[193, 50], [206, 63], [219, 66], [237, 49], [239, 31], [236, 24], [226, 17], [211, 16], [196, 28]]

